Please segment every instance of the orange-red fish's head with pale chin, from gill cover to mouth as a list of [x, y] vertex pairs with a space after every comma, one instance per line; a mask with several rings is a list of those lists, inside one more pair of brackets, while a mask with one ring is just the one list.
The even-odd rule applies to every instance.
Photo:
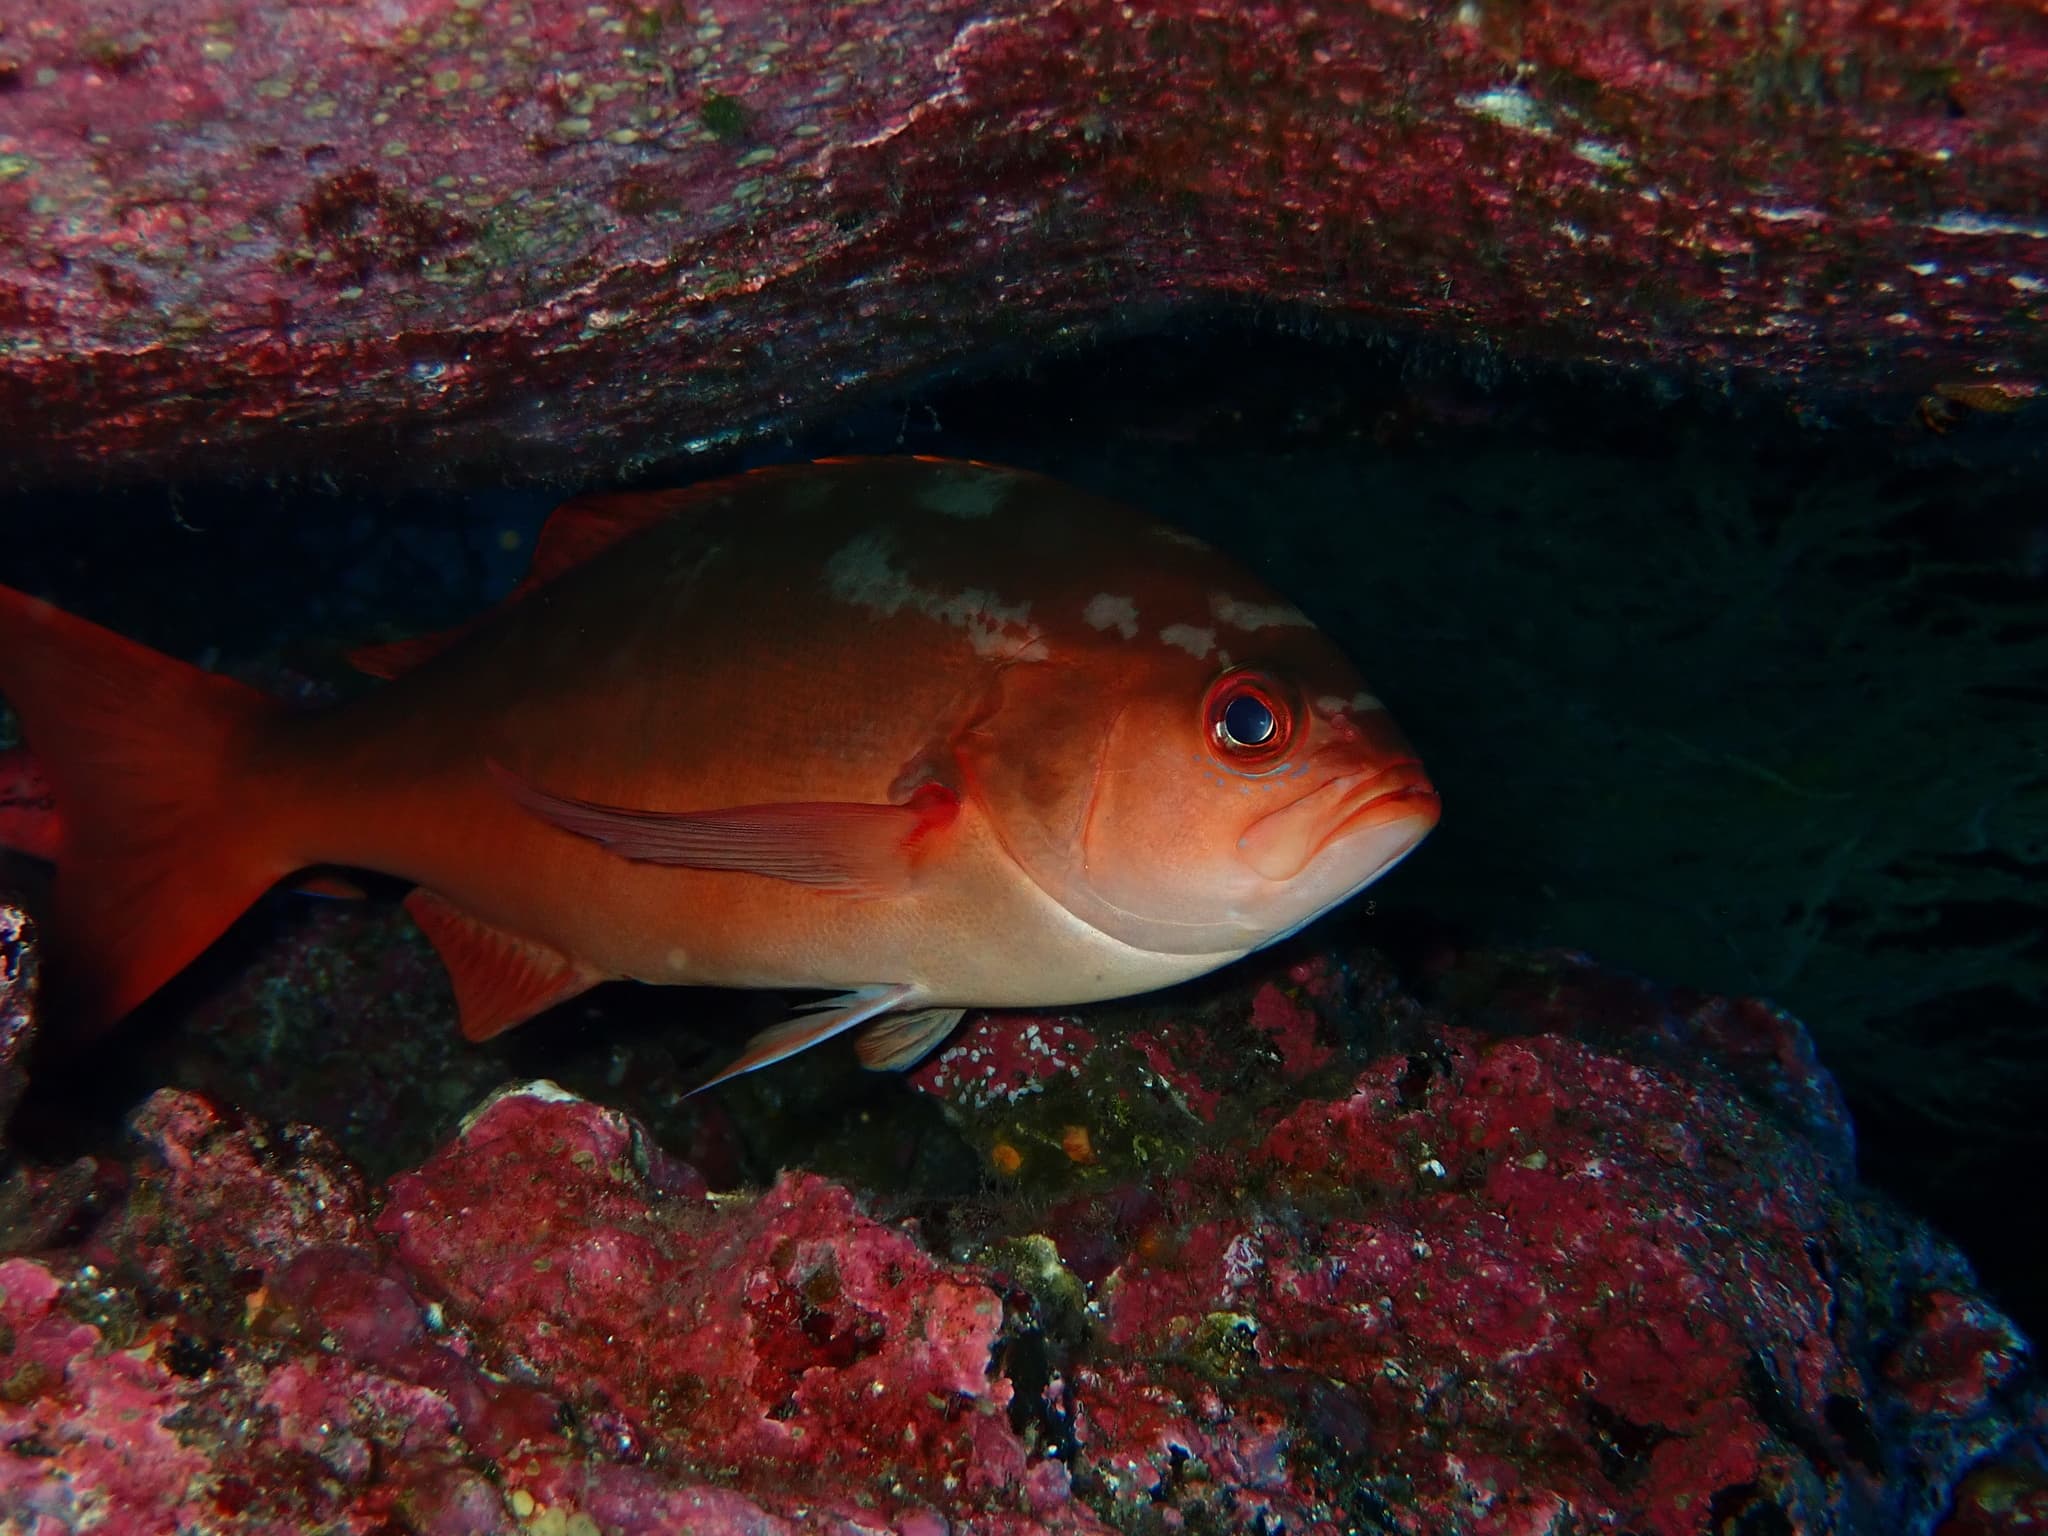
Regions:
[[975, 793], [1067, 911], [1161, 954], [1233, 956], [1405, 858], [1440, 803], [1321, 631], [1225, 659], [1176, 645], [1022, 664], [977, 727]]

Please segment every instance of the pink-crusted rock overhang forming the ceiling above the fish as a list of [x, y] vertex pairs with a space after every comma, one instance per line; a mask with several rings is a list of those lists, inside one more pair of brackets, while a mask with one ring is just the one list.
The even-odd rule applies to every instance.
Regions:
[[608, 479], [1194, 297], [1999, 403], [2044, 76], [1995, 0], [49, 0], [0, 416], [20, 477]]

